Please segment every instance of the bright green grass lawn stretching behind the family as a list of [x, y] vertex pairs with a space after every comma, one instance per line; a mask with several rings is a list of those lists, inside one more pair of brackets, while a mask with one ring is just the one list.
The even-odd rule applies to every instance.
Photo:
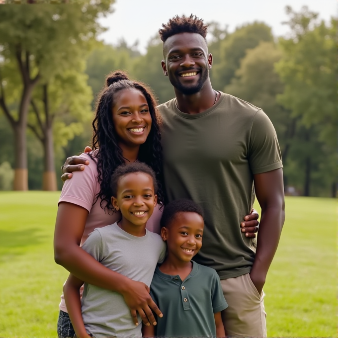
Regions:
[[[53, 258], [59, 192], [0, 193], [0, 337], [56, 337], [68, 275]], [[264, 291], [269, 337], [337, 337], [337, 203], [287, 197]], [[257, 208], [259, 210], [259, 208]]]

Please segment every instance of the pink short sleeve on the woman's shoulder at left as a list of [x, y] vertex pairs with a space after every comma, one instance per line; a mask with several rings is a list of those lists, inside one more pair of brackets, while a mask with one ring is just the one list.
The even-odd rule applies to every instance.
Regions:
[[96, 163], [86, 154], [89, 161], [83, 171], [74, 171], [71, 179], [67, 179], [61, 191], [60, 202], [69, 202], [83, 207], [90, 212], [97, 194], [97, 168]]

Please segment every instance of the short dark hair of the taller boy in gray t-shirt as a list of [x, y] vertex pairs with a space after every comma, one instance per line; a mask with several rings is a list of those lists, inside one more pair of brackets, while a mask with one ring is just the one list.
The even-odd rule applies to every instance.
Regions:
[[136, 173], [136, 172], [143, 172], [148, 174], [150, 177], [153, 178], [154, 182], [154, 191], [157, 193], [158, 190], [158, 184], [156, 180], [156, 175], [153, 169], [151, 169], [148, 165], [142, 162], [132, 162], [123, 164], [121, 166], [118, 166], [113, 174], [111, 175], [110, 179], [110, 189], [112, 192], [112, 195], [116, 197], [117, 195], [117, 185], [120, 178], [128, 173]]

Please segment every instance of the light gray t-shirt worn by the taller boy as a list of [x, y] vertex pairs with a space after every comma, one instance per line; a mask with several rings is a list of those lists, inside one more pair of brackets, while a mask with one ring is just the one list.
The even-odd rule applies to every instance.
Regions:
[[[82, 248], [104, 266], [150, 286], [158, 262], [166, 256], [166, 244], [147, 230], [143, 237], [132, 236], [117, 223], [95, 229]], [[81, 300], [85, 328], [95, 338], [141, 337], [141, 318], [135, 327], [121, 294], [84, 283]]]

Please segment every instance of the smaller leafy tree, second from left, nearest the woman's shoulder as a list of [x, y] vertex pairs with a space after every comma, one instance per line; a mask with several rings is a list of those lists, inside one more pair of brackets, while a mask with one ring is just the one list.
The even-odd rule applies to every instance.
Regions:
[[91, 101], [87, 76], [75, 69], [64, 71], [35, 89], [28, 127], [44, 149], [43, 190], [57, 190], [53, 136], [60, 147], [79, 135], [83, 122], [91, 117]]

